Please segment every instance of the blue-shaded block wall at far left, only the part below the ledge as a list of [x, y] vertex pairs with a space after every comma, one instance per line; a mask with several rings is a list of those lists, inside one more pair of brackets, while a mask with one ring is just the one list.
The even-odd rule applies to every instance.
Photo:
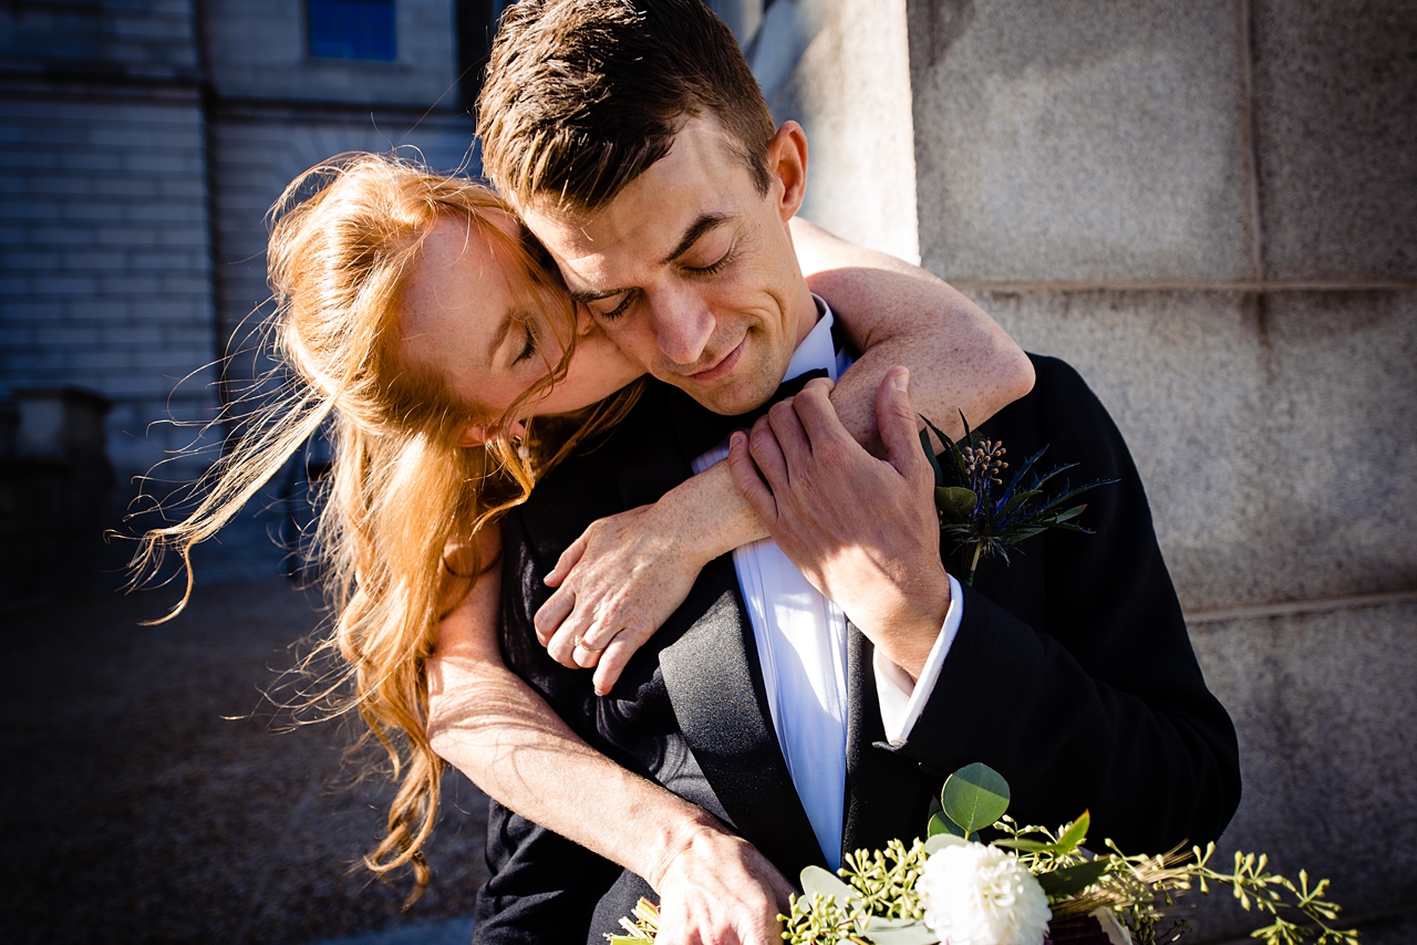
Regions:
[[0, 397], [62, 384], [111, 397], [120, 483], [194, 439], [154, 421], [217, 405], [204, 122], [181, 88], [0, 96]]

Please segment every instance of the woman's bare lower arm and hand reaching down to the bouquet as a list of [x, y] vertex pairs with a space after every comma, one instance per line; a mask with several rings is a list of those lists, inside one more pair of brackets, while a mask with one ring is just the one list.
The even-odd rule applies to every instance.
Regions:
[[452, 612], [427, 664], [434, 751], [509, 809], [642, 876], [672, 934], [724, 941], [744, 917], [774, 927], [791, 885], [761, 853], [703, 808], [591, 748], [506, 667], [499, 541], [496, 528], [483, 531], [479, 554], [466, 557], [493, 564], [470, 589], [445, 585]]

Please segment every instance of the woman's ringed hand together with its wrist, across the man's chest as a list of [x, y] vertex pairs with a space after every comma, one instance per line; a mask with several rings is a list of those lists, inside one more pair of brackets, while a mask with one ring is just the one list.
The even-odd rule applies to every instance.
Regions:
[[594, 666], [604, 696], [706, 564], [767, 534], [718, 463], [652, 506], [591, 523], [546, 577], [557, 591], [536, 613], [537, 639], [563, 666]]

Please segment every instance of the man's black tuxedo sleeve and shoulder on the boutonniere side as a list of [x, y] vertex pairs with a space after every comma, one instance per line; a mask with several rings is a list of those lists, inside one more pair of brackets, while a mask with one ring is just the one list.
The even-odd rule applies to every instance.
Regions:
[[[1032, 587], [1013, 588], [1027, 601], [965, 591], [958, 636], [898, 751], [942, 772], [989, 764], [1026, 823], [1087, 809], [1094, 847], [1203, 844], [1240, 803], [1234, 727], [1206, 689], [1121, 434], [1071, 367], [1034, 363], [1039, 387], [1007, 435], [1049, 445], [1044, 468], [1078, 462], [1073, 482], [1118, 482], [1085, 499], [1095, 534], [1029, 540]], [[1006, 445], [1016, 462], [1027, 455]]]

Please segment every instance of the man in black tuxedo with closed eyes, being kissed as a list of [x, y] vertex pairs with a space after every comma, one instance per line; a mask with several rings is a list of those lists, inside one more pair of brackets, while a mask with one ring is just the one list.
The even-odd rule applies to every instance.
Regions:
[[[1009, 779], [1012, 812], [1030, 823], [1088, 809], [1094, 839], [1141, 851], [1219, 836], [1238, 803], [1233, 727], [1196, 664], [1127, 448], [1051, 358], [1034, 358], [1033, 392], [985, 429], [1010, 456], [1047, 445], [1077, 477], [1118, 480], [1087, 511], [1095, 536], [1037, 536], [961, 588], [941, 562], [904, 373], [877, 402], [886, 460], [845, 435], [828, 381], [811, 381], [728, 452], [777, 540], [764, 554], [785, 553], [822, 594], [818, 643], [765, 652], [801, 626], [762, 616], [789, 595], [762, 578], [781, 570], [737, 554], [704, 568], [608, 696], [537, 643], [543, 578], [592, 520], [655, 502], [721, 455], [808, 349], [828, 346], [808, 364], [828, 371], [842, 354], [786, 230], [805, 187], [801, 129], [772, 129], [731, 34], [697, 0], [642, 6], [512, 7], [480, 103], [489, 174], [572, 295], [656, 378], [504, 519], [507, 664], [581, 738], [789, 877], [918, 834], [944, 775], [973, 761]], [[745, 594], [743, 581], [758, 584]], [[840, 740], [816, 748], [799, 737], [802, 686], [784, 669], [813, 659], [828, 667], [813, 684], [839, 689], [823, 704], [843, 706]], [[840, 783], [805, 776], [823, 759]], [[497, 805], [487, 859], [479, 942], [598, 942], [649, 891]]]

